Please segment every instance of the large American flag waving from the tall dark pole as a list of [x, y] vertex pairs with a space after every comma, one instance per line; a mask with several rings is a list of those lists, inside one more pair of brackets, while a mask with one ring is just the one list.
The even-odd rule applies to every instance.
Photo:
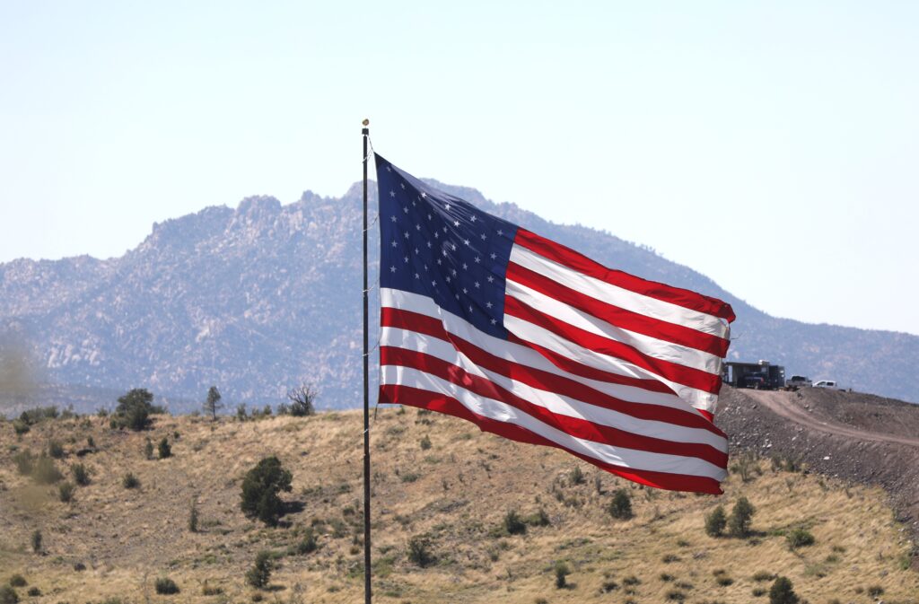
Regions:
[[376, 155], [380, 402], [721, 493], [725, 302], [603, 267]]

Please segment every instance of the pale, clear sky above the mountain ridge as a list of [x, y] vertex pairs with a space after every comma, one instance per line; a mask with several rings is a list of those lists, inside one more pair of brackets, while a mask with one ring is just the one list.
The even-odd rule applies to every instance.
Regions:
[[919, 3], [0, 3], [0, 262], [418, 177], [919, 334]]

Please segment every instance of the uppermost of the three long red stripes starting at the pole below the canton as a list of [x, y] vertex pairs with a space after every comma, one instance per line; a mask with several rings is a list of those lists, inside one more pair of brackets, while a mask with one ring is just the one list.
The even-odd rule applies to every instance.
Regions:
[[[675, 426], [701, 428], [709, 430], [712, 434], [717, 434], [722, 438], [727, 438], [709, 419], [698, 415], [696, 410], [691, 407], [687, 406], [686, 411], [684, 411], [666, 405], [625, 401], [550, 371], [539, 370], [495, 356], [484, 348], [448, 333], [443, 324], [437, 319], [424, 314], [391, 308], [384, 308], [383, 311], [382, 325], [384, 327], [397, 327], [449, 342], [479, 367], [504, 375], [511, 380], [516, 380], [516, 382], [526, 383], [539, 390], [570, 396], [579, 401], [584, 401], [584, 403], [618, 411], [638, 419], [666, 422]], [[655, 381], [655, 383], [662, 382]], [[669, 393], [670, 391], [667, 392]]]

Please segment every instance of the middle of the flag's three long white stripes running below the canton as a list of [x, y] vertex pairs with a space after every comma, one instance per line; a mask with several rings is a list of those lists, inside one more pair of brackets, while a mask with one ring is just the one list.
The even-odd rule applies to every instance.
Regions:
[[437, 359], [445, 360], [472, 375], [479, 376], [489, 382], [494, 382], [506, 391], [538, 405], [560, 416], [575, 417], [599, 424], [601, 426], [615, 427], [617, 429], [639, 434], [653, 439], [664, 439], [674, 442], [698, 443], [727, 452], [727, 441], [723, 437], [698, 427], [678, 426], [669, 422], [641, 419], [630, 416], [606, 407], [591, 405], [571, 396], [540, 389], [528, 383], [518, 382], [501, 373], [487, 370], [471, 359], [464, 356], [449, 342], [434, 336], [426, 336], [414, 331], [399, 329], [397, 327], [383, 327], [385, 332], [381, 337], [386, 346], [403, 348], [421, 352]]

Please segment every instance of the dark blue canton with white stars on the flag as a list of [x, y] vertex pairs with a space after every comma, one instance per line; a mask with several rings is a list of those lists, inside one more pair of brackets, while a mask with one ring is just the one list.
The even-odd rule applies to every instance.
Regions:
[[380, 287], [432, 298], [479, 330], [506, 339], [505, 274], [516, 225], [376, 158]]

